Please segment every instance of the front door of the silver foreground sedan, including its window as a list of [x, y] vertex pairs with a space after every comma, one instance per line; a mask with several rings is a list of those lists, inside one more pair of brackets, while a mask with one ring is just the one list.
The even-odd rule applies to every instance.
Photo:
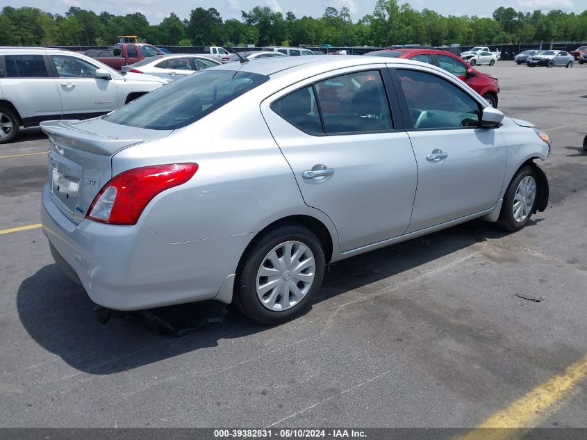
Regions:
[[395, 84], [418, 167], [408, 232], [495, 206], [504, 183], [506, 143], [479, 124], [481, 104], [431, 70], [395, 70]]

